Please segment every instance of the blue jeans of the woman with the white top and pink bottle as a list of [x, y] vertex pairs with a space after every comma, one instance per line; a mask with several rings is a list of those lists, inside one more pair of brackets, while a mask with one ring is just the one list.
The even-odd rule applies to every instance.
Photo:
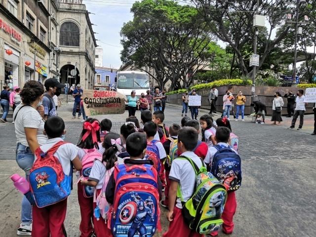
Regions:
[[[15, 159], [19, 167], [24, 170], [25, 178], [29, 180], [30, 169], [34, 163], [34, 154], [32, 154], [31, 149], [18, 143]], [[22, 225], [29, 225], [32, 222], [32, 206], [25, 196], [22, 199], [21, 222]]]

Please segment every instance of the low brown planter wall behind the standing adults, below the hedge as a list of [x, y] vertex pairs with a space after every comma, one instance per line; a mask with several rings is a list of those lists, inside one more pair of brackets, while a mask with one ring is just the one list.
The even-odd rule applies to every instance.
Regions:
[[[251, 85], [232, 85], [233, 86], [233, 94], [236, 97], [236, 94], [239, 90], [242, 91], [242, 94], [246, 96], [245, 103], [245, 115], [250, 114], [250, 103], [251, 103]], [[202, 96], [201, 108], [210, 109], [210, 105], [208, 103], [208, 94], [211, 88], [197, 90], [197, 94]], [[219, 86], [218, 89], [218, 99], [216, 102], [217, 111], [223, 111], [223, 96], [225, 95], [225, 91], [228, 89], [228, 86]], [[294, 94], [296, 94], [297, 90], [301, 88], [298, 87], [281, 87], [281, 86], [256, 86], [256, 98], [255, 100], [259, 100], [267, 106], [268, 115], [272, 115], [272, 102], [274, 99], [274, 94], [276, 91], [279, 91], [282, 96], [286, 93], [286, 90], [292, 90]], [[302, 88], [305, 92], [305, 88]], [[283, 98], [284, 106], [282, 108], [282, 114], [287, 114], [287, 99]], [[182, 105], [182, 94], [173, 94], [168, 95], [167, 99], [168, 103]], [[235, 104], [235, 102], [234, 102]], [[306, 108], [306, 114], [313, 113], [313, 105], [314, 103], [309, 103]], [[236, 109], [235, 109], [236, 111]]]

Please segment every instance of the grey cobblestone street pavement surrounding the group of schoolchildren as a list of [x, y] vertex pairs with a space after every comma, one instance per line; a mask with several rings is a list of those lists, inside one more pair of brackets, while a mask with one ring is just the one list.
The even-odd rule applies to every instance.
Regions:
[[[166, 108], [167, 125], [181, 120], [181, 108]], [[200, 111], [199, 116], [205, 112]], [[65, 119], [66, 140], [77, 143], [82, 123], [71, 118], [71, 104], [59, 110]], [[104, 116], [118, 131], [124, 115]], [[139, 118], [139, 112], [136, 116]], [[99, 118], [99, 117], [98, 117]], [[217, 116], [214, 117], [218, 118]], [[314, 237], [316, 190], [316, 136], [311, 136], [313, 119], [305, 117], [301, 131], [281, 126], [232, 121], [239, 136], [239, 154], [243, 160], [243, 181], [237, 191], [237, 213], [232, 237]], [[267, 119], [268, 120], [268, 119]], [[14, 124], [0, 124], [0, 236], [15, 236], [20, 219], [21, 195], [14, 190], [9, 175], [22, 174], [16, 165]], [[71, 237], [79, 236], [79, 205], [76, 188], [69, 197], [66, 228]], [[4, 215], [5, 213], [5, 215]], [[163, 230], [167, 229], [162, 211]], [[157, 236], [161, 236], [158, 234]], [[220, 233], [219, 236], [225, 236]]]

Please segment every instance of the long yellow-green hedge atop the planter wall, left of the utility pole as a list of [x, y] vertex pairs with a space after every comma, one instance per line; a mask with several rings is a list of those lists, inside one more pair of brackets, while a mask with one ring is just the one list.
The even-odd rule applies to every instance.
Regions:
[[[213, 85], [215, 86], [222, 86], [222, 85], [244, 85], [244, 80], [242, 79], [221, 79], [221, 80], [215, 80], [209, 83], [202, 83], [202, 84], [197, 84], [197, 85], [193, 85], [190, 87], [190, 89], [204, 89], [204, 88], [212, 88]], [[247, 80], [247, 85], [251, 85], [252, 81], [251, 80]], [[172, 95], [172, 94], [182, 94], [184, 92], [186, 92], [187, 89], [179, 89], [179, 90], [174, 90], [174, 91], [170, 91], [167, 92], [166, 95]]]

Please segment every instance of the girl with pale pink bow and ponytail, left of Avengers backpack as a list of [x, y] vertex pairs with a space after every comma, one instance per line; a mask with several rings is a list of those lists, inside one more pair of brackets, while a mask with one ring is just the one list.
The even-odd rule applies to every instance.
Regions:
[[[96, 189], [93, 197], [93, 209], [95, 209], [97, 205], [98, 207], [100, 205], [100, 208], [101, 205], [109, 205], [107, 202], [104, 201], [105, 189], [114, 170], [114, 165], [118, 161], [116, 155], [121, 149], [120, 136], [117, 133], [109, 132], [104, 137], [102, 145], [105, 148], [102, 160], [96, 159], [93, 163], [89, 178], [87, 180], [80, 181], [81, 185], [95, 187]], [[97, 218], [93, 216], [95, 234], [98, 237], [112, 237], [111, 230], [107, 227], [106, 224], [108, 221], [107, 218], [109, 216], [106, 213], [103, 213], [103, 211], [104, 210], [102, 209], [99, 220], [97, 220]], [[107, 217], [106, 220], [103, 219], [104, 216]]]

